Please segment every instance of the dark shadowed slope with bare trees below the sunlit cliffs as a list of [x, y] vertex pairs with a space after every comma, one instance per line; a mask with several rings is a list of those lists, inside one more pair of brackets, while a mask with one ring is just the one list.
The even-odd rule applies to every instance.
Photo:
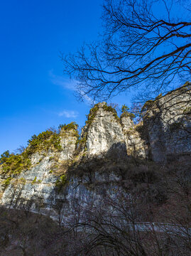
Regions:
[[190, 255], [190, 156], [162, 165], [121, 149], [70, 165], [54, 221], [40, 206], [32, 213], [35, 198], [21, 210], [1, 207], [0, 255]]

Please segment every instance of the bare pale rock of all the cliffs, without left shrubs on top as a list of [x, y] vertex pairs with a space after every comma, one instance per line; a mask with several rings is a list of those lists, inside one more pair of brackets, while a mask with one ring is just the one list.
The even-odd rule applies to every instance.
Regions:
[[[104, 166], [104, 169], [101, 166], [100, 172], [94, 172], [94, 166], [86, 163], [87, 173], [72, 174], [65, 188], [59, 190], [55, 184], [67, 173], [69, 162], [77, 164], [84, 156], [87, 159], [109, 156], [118, 163], [131, 156], [166, 161], [169, 156], [190, 154], [191, 119], [187, 114], [190, 99], [190, 91], [171, 92], [160, 97], [138, 125], [134, 125], [130, 117], [119, 119], [105, 102], [99, 103], [82, 130], [82, 147], [77, 148], [76, 130], [61, 132], [60, 151], [51, 149], [32, 154], [30, 169], [14, 176], [5, 189], [2, 182], [6, 176], [0, 176], [1, 203], [55, 216], [62, 202], [63, 214], [67, 215], [75, 202], [99, 201], [107, 191], [121, 189], [115, 165]], [[75, 170], [80, 172], [78, 165]]]

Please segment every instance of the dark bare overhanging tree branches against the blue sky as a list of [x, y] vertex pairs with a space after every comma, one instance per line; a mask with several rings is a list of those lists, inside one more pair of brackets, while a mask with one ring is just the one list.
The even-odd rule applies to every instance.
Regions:
[[190, 1], [104, 0], [101, 40], [63, 55], [80, 95], [159, 94], [190, 80]]

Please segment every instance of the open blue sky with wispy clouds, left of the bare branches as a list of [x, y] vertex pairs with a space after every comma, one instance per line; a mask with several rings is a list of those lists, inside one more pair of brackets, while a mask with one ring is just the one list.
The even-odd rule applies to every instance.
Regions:
[[[77, 102], [62, 75], [62, 53], [97, 39], [102, 0], [6, 0], [0, 4], [0, 154], [26, 146], [48, 127], [84, 125], [89, 102]], [[114, 102], [127, 98], [116, 97]]]

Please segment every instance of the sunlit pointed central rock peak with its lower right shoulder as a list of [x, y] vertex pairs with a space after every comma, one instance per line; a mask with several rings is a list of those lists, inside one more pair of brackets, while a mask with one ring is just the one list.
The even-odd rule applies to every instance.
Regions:
[[99, 155], [118, 145], [121, 149], [125, 146], [129, 155], [146, 157], [146, 144], [130, 117], [119, 119], [106, 102], [98, 103], [96, 108], [92, 122], [87, 122], [82, 132], [87, 154]]

